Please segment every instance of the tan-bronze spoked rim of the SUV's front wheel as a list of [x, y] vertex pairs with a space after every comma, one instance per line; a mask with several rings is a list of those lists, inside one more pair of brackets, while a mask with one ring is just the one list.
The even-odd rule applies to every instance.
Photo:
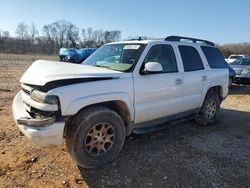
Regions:
[[99, 123], [92, 127], [85, 138], [85, 150], [92, 156], [108, 152], [114, 144], [115, 132], [112, 125]]

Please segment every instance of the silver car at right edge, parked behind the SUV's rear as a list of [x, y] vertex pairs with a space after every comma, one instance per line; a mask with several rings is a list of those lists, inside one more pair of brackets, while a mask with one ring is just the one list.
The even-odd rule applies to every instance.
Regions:
[[242, 57], [235, 60], [230, 66], [236, 72], [236, 78], [234, 83], [238, 84], [250, 84], [250, 57]]

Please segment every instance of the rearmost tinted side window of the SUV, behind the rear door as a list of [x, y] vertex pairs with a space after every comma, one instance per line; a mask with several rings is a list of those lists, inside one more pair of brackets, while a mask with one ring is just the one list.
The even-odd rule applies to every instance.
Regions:
[[227, 68], [226, 61], [217, 48], [209, 46], [201, 46], [204, 55], [207, 58], [207, 62], [211, 68]]

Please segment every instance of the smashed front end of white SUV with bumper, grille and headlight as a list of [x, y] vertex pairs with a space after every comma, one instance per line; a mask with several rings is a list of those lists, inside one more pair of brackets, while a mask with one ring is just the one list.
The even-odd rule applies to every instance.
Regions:
[[13, 102], [13, 115], [18, 128], [41, 146], [63, 143], [65, 120], [61, 117], [57, 96], [48, 95], [27, 84]]

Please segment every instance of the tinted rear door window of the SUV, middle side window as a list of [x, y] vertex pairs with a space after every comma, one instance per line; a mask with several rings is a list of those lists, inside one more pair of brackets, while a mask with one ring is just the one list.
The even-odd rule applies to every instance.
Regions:
[[204, 69], [198, 51], [192, 46], [179, 46], [185, 72]]

